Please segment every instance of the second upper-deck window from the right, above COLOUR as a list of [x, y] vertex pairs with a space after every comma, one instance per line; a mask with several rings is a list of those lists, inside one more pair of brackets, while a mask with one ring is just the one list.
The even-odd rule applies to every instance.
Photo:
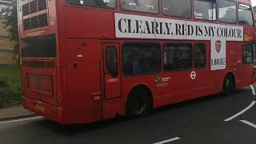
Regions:
[[221, 22], [237, 23], [237, 4], [226, 0], [218, 1], [218, 19]]

